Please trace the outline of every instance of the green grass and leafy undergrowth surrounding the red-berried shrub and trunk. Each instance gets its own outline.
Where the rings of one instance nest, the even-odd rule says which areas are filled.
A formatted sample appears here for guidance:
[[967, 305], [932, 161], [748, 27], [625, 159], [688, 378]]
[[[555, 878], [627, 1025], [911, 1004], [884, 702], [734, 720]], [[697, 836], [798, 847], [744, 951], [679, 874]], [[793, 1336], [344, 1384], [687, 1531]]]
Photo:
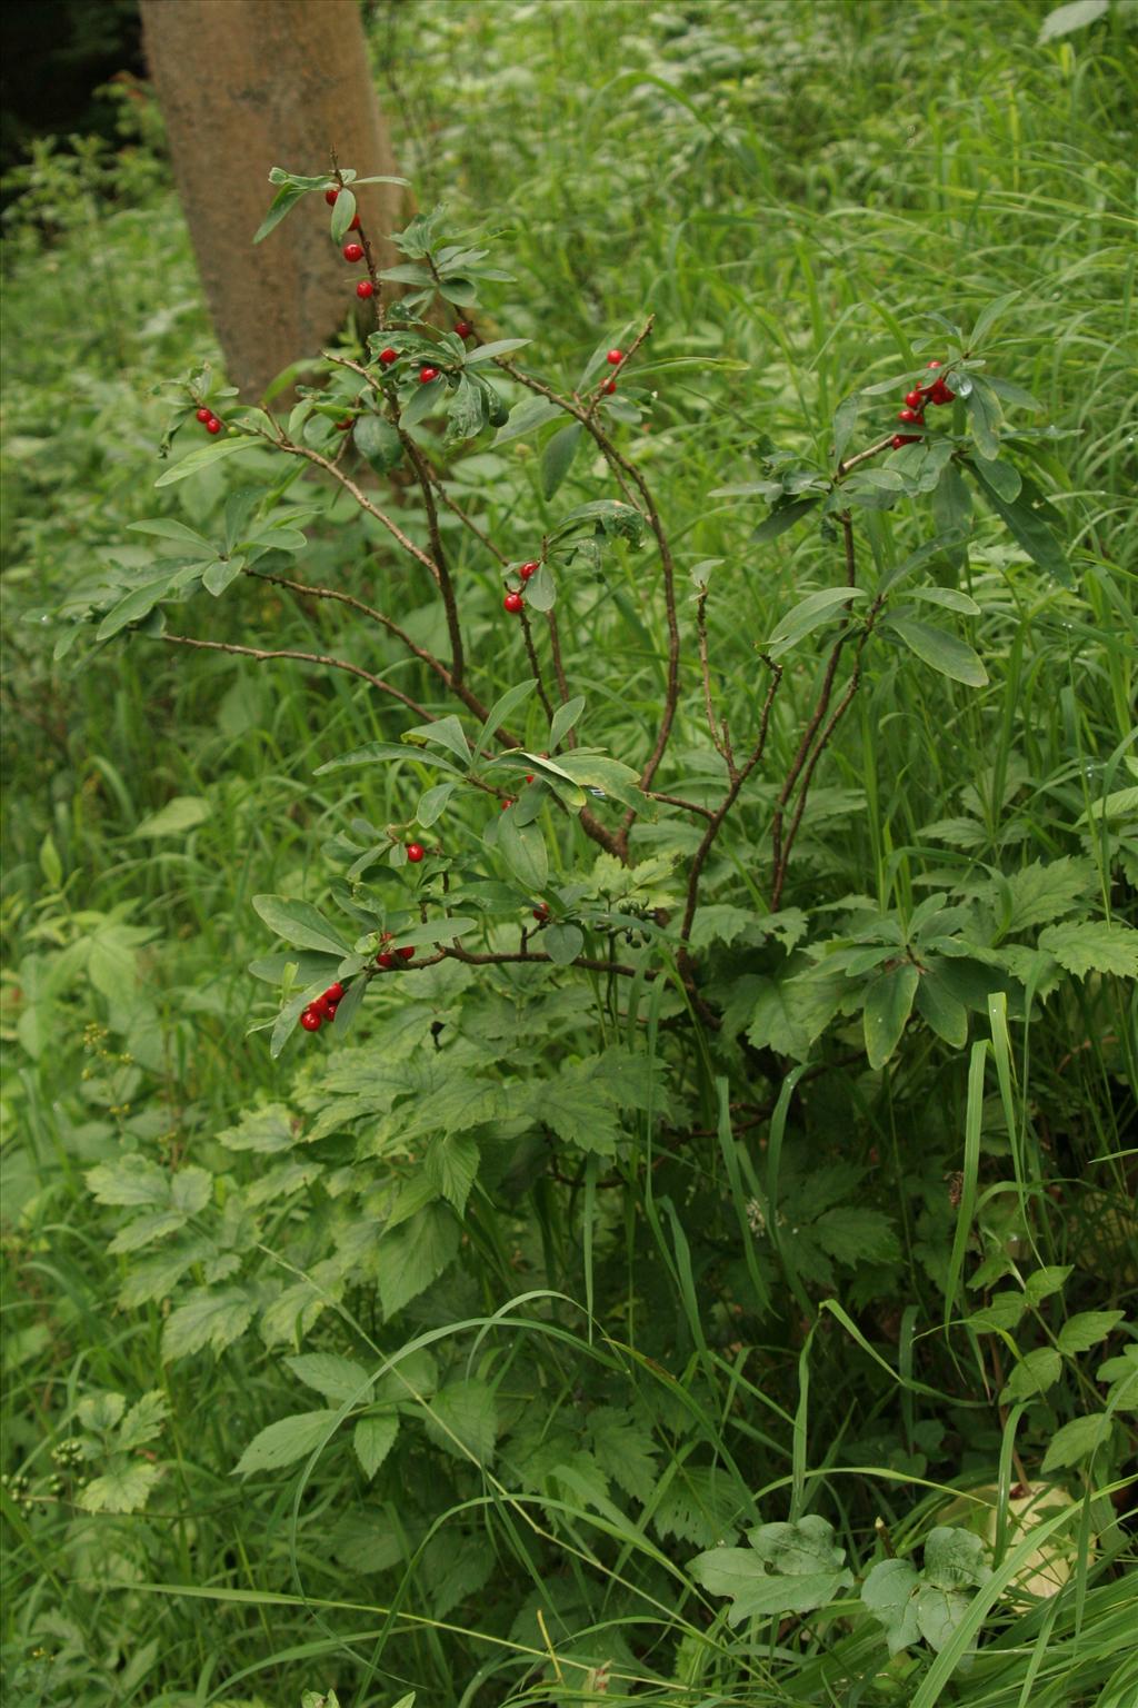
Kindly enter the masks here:
[[[1046, 495], [1042, 535], [1025, 545], [979, 487], [858, 507], [867, 586], [940, 540], [921, 622], [950, 649], [933, 664], [913, 629], [867, 647], [771, 915], [775, 798], [833, 630], [788, 642], [688, 982], [698, 815], [645, 813], [628, 874], [546, 810], [546, 869], [517, 890], [525, 852], [486, 847], [478, 791], [442, 820], [420, 804], [447, 775], [423, 746], [317, 774], [418, 721], [358, 678], [143, 632], [56, 646], [60, 608], [165, 550], [133, 523], [217, 535], [271, 459], [155, 490], [176, 466], [159, 388], [215, 352], [154, 114], [118, 152], [27, 167], [2, 470], [14, 1701], [1135, 1701], [1135, 12], [1090, 5], [1039, 43], [1046, 15], [369, 12], [420, 207], [491, 234], [514, 275], [485, 287], [479, 336], [532, 340], [517, 359], [565, 389], [655, 316], [621, 376], [640, 418], [613, 436], [677, 560], [664, 794], [722, 793], [700, 586], [742, 745], [759, 642], [845, 586], [817, 516], [754, 538], [771, 499], [833, 470], [843, 400], [862, 395], [851, 454], [894, 427], [896, 386], [868, 388], [1002, 307], [983, 355], [1031, 400], [1005, 403], [1002, 466]], [[493, 437], [425, 442], [512, 562], [613, 497], [599, 456], [558, 468], [544, 437]], [[304, 553], [276, 569], [445, 651], [382, 531], [302, 495]], [[425, 545], [415, 492], [398, 502]], [[496, 565], [444, 524], [490, 704], [532, 671]], [[659, 576], [652, 548], [601, 548], [565, 666], [584, 738], [636, 772], [665, 683]], [[242, 581], [205, 605], [171, 625], [346, 656], [456, 712], [328, 601]], [[556, 741], [536, 697], [508, 717], [539, 769]], [[386, 854], [389, 825], [428, 844], [423, 873], [365, 864], [353, 902], [345, 868], [372, 837]], [[288, 965], [299, 989], [442, 905], [444, 844], [486, 919], [508, 885], [522, 922], [553, 904], [563, 965], [375, 979], [343, 1042], [273, 1054]], [[295, 934], [331, 917], [340, 946]], [[464, 941], [517, 941], [514, 919], [479, 929]], [[572, 965], [578, 939], [664, 974], [626, 999]], [[906, 956], [947, 967], [911, 1020]]]

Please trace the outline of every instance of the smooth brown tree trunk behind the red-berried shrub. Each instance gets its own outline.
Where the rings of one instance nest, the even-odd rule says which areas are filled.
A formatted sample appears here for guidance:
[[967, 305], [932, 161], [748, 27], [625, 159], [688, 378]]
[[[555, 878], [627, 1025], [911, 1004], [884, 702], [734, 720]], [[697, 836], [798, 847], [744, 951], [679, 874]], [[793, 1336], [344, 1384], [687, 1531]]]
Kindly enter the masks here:
[[[229, 379], [246, 400], [314, 357], [357, 306], [351, 268], [311, 195], [253, 248], [273, 196], [270, 167], [360, 176], [396, 171], [357, 0], [142, 0], [147, 58], [174, 179]], [[380, 266], [398, 254], [404, 191], [360, 190]]]

